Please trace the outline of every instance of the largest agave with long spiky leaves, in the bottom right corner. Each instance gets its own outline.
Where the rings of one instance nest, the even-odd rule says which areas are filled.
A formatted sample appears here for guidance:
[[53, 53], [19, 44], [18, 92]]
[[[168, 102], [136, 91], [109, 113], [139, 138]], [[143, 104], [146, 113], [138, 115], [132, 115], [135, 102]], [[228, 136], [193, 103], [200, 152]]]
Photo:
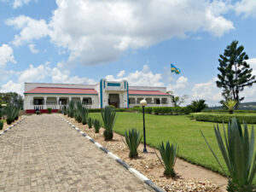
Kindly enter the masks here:
[[[217, 155], [213, 152], [210, 144], [204, 137], [208, 147], [212, 151], [218, 165], [222, 168], [226, 175], [229, 175], [229, 183], [227, 191], [229, 192], [253, 192], [256, 186], [253, 185], [253, 177], [256, 173], [256, 154], [254, 153], [254, 129], [252, 128], [251, 137], [249, 137], [247, 124], [241, 128], [236, 118], [232, 118], [228, 124], [228, 130], [224, 127], [224, 138], [221, 136], [218, 125], [214, 126], [215, 137], [218, 147], [224, 158], [225, 165], [229, 174], [224, 172], [224, 167], [218, 160]], [[254, 158], [253, 158], [254, 156]]]

